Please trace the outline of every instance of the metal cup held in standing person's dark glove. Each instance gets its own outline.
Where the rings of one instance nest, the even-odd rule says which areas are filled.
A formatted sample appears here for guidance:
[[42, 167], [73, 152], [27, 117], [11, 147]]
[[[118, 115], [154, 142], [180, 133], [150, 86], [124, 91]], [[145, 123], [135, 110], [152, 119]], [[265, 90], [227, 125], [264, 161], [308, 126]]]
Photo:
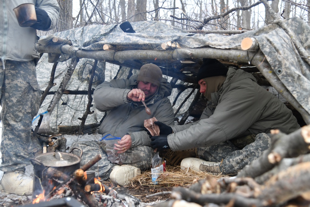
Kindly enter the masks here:
[[37, 23], [37, 15], [34, 4], [20, 4], [18, 7], [15, 7], [13, 11], [16, 15], [18, 24], [21, 27], [29, 27]]

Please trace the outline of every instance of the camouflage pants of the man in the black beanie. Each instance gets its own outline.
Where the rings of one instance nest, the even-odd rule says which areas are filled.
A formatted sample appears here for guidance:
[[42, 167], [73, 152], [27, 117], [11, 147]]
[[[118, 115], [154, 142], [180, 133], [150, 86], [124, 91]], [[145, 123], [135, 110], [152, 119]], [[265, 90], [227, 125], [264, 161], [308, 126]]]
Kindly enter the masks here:
[[235, 175], [239, 170], [250, 164], [262, 155], [271, 145], [270, 134], [260, 133], [255, 141], [240, 149], [230, 141], [222, 142], [209, 147], [197, 148], [197, 155], [207, 161], [221, 162], [224, 175]]

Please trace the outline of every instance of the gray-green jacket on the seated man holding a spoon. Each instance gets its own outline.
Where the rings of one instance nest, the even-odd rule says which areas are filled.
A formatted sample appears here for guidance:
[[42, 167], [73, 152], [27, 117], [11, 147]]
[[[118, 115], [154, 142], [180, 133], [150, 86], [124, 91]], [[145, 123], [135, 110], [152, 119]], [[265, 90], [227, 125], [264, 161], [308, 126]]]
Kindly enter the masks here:
[[162, 79], [157, 93], [145, 100], [146, 105], [152, 111], [147, 115], [141, 102], [127, 101], [127, 94], [137, 85], [138, 75], [129, 79], [113, 79], [110, 82], [101, 83], [94, 91], [95, 107], [100, 111], [109, 111], [100, 125], [99, 133], [105, 136], [111, 134], [115, 137], [123, 137], [126, 133], [131, 135], [131, 147], [150, 146], [151, 139], [144, 131], [144, 119], [155, 117], [167, 125], [174, 124], [174, 114], [167, 98], [171, 94], [171, 85]]

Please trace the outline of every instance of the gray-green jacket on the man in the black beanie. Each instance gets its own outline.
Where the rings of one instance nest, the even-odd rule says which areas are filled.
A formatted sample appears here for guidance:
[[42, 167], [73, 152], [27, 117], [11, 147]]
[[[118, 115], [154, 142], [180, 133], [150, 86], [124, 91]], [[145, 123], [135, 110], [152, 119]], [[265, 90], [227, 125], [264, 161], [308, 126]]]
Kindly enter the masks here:
[[174, 133], [168, 135], [168, 144], [172, 150], [211, 146], [271, 129], [291, 133], [300, 128], [292, 111], [243, 70], [230, 68], [222, 88], [211, 97], [214, 106], [207, 106], [199, 121], [171, 126]]

